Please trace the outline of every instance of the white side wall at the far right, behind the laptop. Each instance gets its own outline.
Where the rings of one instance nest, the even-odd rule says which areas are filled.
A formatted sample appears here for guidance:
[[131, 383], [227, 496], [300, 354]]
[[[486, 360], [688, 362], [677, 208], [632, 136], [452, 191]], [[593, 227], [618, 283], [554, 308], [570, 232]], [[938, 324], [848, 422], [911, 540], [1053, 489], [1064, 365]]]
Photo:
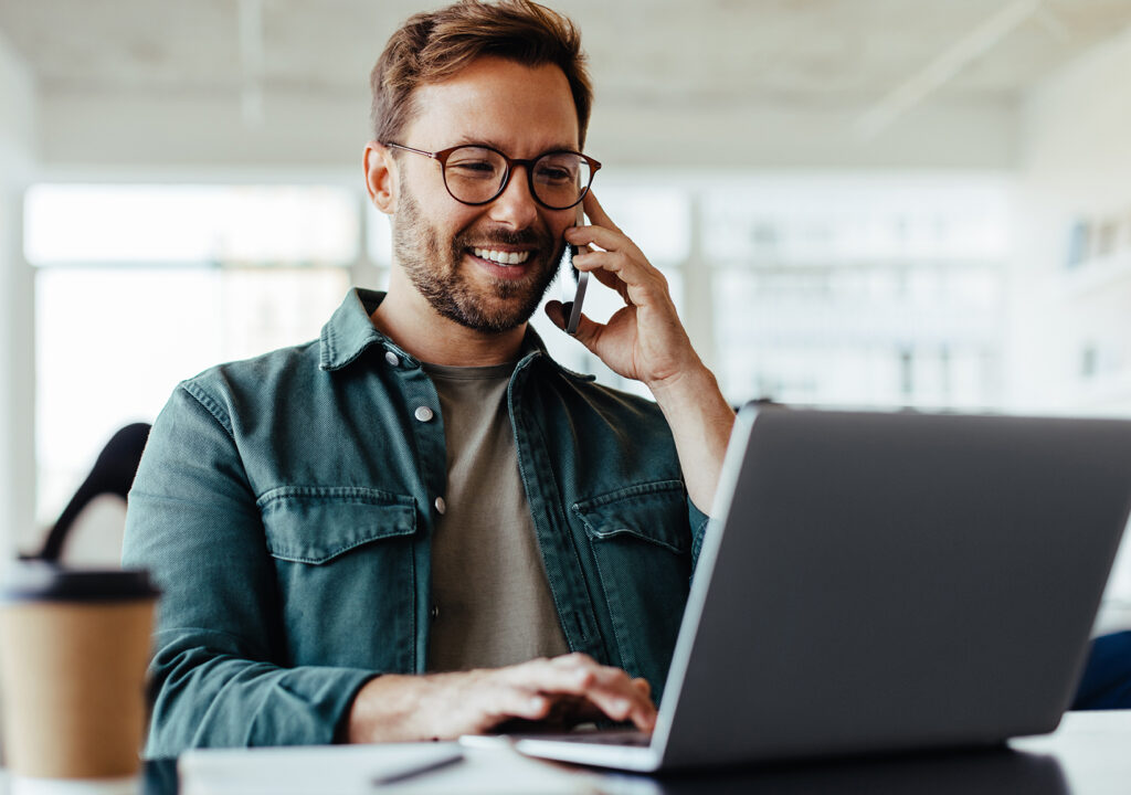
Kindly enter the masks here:
[[[1131, 28], [1051, 76], [1024, 105], [1007, 356], [1013, 405], [1022, 409], [1131, 416], [1129, 77]], [[1069, 268], [1072, 224], [1108, 218], [1121, 224], [1115, 253]], [[1102, 361], [1085, 377], [1089, 344]], [[1115, 623], [1107, 628], [1131, 627], [1131, 537], [1108, 598], [1106, 621]]]

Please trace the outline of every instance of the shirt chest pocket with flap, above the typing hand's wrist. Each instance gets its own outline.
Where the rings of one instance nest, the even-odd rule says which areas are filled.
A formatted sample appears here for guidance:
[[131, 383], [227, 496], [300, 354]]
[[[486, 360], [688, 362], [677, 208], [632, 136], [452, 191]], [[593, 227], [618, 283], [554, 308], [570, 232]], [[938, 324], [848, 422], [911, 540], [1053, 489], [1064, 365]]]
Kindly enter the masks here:
[[356, 486], [285, 486], [258, 505], [291, 664], [411, 673], [414, 500]]

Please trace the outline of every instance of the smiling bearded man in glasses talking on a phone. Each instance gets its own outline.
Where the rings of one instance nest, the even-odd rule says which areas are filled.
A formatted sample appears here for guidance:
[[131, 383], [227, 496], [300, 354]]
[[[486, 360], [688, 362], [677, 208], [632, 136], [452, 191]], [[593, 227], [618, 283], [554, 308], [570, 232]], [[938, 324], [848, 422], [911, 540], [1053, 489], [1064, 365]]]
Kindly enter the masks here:
[[[165, 589], [149, 755], [655, 719], [733, 414], [588, 192], [577, 33], [457, 3], [409, 19], [372, 85], [388, 293], [180, 384], [130, 494], [124, 562]], [[625, 302], [577, 339], [656, 403], [527, 327], [563, 241]]]

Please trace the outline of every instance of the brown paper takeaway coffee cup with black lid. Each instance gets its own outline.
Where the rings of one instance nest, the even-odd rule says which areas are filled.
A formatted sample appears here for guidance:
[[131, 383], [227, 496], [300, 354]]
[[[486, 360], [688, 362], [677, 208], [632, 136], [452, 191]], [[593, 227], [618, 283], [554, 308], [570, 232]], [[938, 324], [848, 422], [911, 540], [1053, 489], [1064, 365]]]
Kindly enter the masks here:
[[5, 767], [28, 778], [138, 772], [157, 590], [144, 571], [14, 565], [0, 579]]

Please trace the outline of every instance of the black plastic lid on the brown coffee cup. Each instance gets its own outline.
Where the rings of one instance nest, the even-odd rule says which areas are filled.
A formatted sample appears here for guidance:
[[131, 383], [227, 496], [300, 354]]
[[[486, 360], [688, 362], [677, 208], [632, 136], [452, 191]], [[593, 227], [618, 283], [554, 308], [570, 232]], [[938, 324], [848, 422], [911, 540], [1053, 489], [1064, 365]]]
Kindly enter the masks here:
[[0, 573], [2, 602], [127, 602], [161, 591], [144, 569], [67, 569], [18, 563]]

